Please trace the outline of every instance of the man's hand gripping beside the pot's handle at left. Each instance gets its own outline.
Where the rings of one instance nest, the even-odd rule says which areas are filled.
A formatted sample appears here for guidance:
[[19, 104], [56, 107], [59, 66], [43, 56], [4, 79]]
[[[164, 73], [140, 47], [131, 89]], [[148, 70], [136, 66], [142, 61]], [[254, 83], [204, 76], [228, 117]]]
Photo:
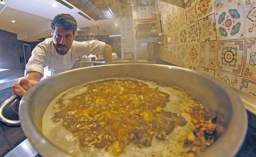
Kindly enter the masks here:
[[16, 99], [11, 107], [14, 109], [14, 112], [18, 114], [18, 107], [20, 104], [21, 97], [27, 92], [29, 88], [31, 88], [34, 84], [39, 82], [42, 78], [42, 74], [38, 72], [30, 72], [28, 73], [26, 78], [20, 80], [19, 83], [15, 83], [11, 86], [11, 90], [14, 94], [18, 95], [18, 99]]

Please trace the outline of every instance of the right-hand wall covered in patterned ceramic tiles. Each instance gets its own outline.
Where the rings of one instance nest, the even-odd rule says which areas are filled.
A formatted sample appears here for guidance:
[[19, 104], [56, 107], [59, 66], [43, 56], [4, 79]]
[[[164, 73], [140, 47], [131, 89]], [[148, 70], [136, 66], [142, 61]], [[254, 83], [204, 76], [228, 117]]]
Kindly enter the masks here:
[[158, 1], [162, 60], [256, 97], [256, 0]]

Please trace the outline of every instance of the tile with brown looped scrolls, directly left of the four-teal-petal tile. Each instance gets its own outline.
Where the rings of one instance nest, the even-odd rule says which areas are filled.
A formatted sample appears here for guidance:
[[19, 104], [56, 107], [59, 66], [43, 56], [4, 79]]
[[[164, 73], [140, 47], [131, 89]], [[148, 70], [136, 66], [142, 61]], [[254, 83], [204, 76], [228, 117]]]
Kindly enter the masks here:
[[215, 14], [211, 14], [198, 20], [200, 42], [212, 42], [217, 40]]

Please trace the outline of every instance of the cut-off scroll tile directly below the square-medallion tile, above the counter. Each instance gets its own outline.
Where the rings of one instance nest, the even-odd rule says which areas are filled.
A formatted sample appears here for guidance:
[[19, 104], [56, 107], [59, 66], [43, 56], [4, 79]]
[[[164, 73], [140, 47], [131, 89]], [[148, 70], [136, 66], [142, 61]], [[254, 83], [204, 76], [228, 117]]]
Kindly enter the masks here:
[[237, 89], [240, 88], [240, 84], [242, 80], [242, 77], [240, 76], [216, 70], [214, 77], [221, 80], [224, 84], [229, 85], [233, 88], [237, 88]]

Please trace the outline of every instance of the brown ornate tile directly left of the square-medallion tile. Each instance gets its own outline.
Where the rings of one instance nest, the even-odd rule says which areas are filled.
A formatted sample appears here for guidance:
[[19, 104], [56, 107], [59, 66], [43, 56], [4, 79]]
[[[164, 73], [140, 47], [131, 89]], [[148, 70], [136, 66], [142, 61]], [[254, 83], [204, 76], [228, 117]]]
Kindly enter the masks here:
[[201, 43], [200, 44], [200, 61], [199, 64], [208, 66], [215, 69], [216, 65], [216, 54], [217, 54], [217, 43]]

